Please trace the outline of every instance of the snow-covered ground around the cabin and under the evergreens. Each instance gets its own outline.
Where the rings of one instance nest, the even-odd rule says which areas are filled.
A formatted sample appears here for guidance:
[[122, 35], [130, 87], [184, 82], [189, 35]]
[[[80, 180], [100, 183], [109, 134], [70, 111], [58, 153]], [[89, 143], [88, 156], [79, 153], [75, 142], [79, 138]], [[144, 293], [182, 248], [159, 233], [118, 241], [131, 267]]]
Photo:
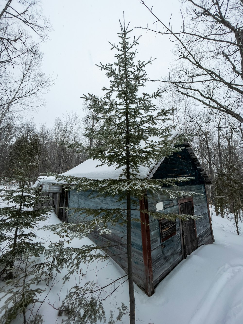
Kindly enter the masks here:
[[[243, 320], [243, 223], [239, 223], [241, 235], [236, 235], [233, 220], [221, 218], [215, 213], [212, 217], [215, 242], [203, 245], [194, 251], [186, 260], [183, 260], [169, 275], [156, 287], [155, 294], [147, 297], [145, 293], [134, 285], [136, 320], [137, 323], [154, 324], [241, 324]], [[58, 224], [60, 221], [54, 212], [47, 220], [39, 224], [36, 233], [40, 241], [58, 241], [59, 237], [52, 232], [43, 231], [42, 226]], [[73, 247], [91, 244], [88, 238], [75, 239]], [[38, 260], [37, 260], [38, 262]], [[124, 272], [113, 260], [93, 262], [81, 266], [85, 276], [77, 273], [64, 285], [62, 273], [53, 273], [53, 283], [46, 287], [46, 283], [39, 284], [46, 288], [45, 293], [39, 297], [42, 304], [39, 314], [43, 316], [45, 324], [61, 324], [65, 316], [58, 316], [58, 308], [65, 298], [68, 290], [79, 284], [94, 281], [97, 286], [105, 286], [124, 275]], [[123, 302], [129, 306], [128, 282], [118, 283], [107, 287], [102, 292], [107, 322], [110, 311], [114, 319], [118, 315], [117, 307]], [[2, 283], [3, 285], [3, 283]], [[119, 287], [118, 287], [119, 286]], [[118, 287], [111, 294], [110, 292]], [[0, 308], [4, 298], [0, 295]], [[53, 308], [52, 306], [55, 308]], [[124, 324], [129, 323], [129, 317], [122, 318]], [[23, 323], [19, 317], [13, 324]]]

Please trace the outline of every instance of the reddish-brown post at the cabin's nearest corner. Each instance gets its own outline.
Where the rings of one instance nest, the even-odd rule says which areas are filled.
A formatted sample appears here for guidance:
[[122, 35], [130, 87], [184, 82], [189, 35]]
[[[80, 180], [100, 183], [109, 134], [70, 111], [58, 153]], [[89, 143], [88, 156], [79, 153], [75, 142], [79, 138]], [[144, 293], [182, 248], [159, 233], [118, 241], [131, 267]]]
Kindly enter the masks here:
[[141, 236], [143, 244], [145, 293], [150, 297], [154, 293], [154, 282], [152, 270], [149, 216], [145, 212], [145, 209], [148, 210], [148, 203], [147, 200], [145, 200], [145, 198], [141, 199], [139, 203], [141, 219]]

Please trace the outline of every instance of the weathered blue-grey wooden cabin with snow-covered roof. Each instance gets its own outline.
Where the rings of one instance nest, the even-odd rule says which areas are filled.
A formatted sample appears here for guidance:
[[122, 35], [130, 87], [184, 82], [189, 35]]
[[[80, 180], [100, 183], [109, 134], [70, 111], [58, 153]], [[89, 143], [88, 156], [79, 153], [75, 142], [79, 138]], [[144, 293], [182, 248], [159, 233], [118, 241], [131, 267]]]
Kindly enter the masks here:
[[[65, 172], [64, 175], [87, 177], [87, 175], [85, 175], [85, 168], [88, 164], [90, 164], [90, 160]], [[99, 179], [96, 178], [96, 174], [99, 173], [99, 168], [101, 167], [93, 171], [94, 175], [92, 179]], [[79, 170], [79, 173], [75, 170]], [[163, 194], [157, 194], [152, 197], [147, 193], [147, 199], [139, 202], [141, 211], [132, 211], [132, 218], [141, 219], [141, 222], [132, 221], [134, 282], [141, 287], [148, 296], [154, 293], [156, 285], [181, 260], [185, 259], [199, 246], [214, 242], [206, 194], [206, 185], [211, 184], [211, 182], [188, 142], [184, 142], [182, 151], [161, 159], [147, 174], [148, 179], [173, 177], [194, 177], [193, 180], [180, 183], [179, 190], [198, 194], [193, 195], [193, 197], [169, 199]], [[107, 174], [106, 178], [109, 178]], [[39, 181], [40, 184], [44, 186], [48, 182], [50, 184], [53, 180], [41, 179]], [[171, 187], [167, 187], [167, 189], [173, 190]], [[178, 190], [178, 188], [174, 189]], [[66, 206], [69, 208], [122, 207], [121, 202], [116, 202], [115, 198], [96, 197], [95, 193], [91, 195], [91, 198], [89, 197], [90, 192], [88, 191], [70, 190], [65, 193], [65, 191], [60, 188], [59, 193], [52, 192], [50, 194], [52, 194], [54, 207], [57, 212], [59, 206]], [[57, 197], [58, 194], [59, 196]], [[172, 222], [163, 219], [163, 216], [161, 220], [153, 219], [149, 217], [147, 213], [143, 213], [142, 210], [159, 211], [161, 212], [161, 216], [163, 213], [178, 213], [195, 214], [201, 217], [196, 221], [192, 219], [189, 221], [177, 219], [176, 222]], [[65, 214], [62, 209], [58, 213], [59, 218], [67, 222], [79, 223], [83, 220], [83, 216], [78, 213], [73, 213], [71, 210]], [[102, 235], [94, 231], [90, 234], [89, 238], [98, 246], [110, 246], [104, 250], [125, 272], [127, 272], [125, 245], [126, 226], [117, 224], [115, 227], [110, 227], [110, 231], [111, 234]]]

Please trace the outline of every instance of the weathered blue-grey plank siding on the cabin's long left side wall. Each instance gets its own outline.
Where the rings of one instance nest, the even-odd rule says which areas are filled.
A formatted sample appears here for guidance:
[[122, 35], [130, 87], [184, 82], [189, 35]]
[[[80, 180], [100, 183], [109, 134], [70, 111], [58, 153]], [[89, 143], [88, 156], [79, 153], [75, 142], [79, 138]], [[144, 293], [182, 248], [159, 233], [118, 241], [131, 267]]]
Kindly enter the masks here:
[[[126, 202], [116, 202], [115, 198], [112, 197], [95, 197], [92, 194], [90, 197], [88, 195], [90, 192], [75, 191], [71, 190], [69, 193], [69, 208], [126, 208]], [[139, 203], [139, 202], [138, 202]], [[132, 208], [138, 208], [138, 206], [133, 206]], [[131, 211], [132, 219], [140, 219], [140, 211]], [[73, 211], [68, 211], [68, 222], [80, 223], [84, 220], [85, 215], [80, 215], [79, 213], [74, 213]], [[124, 217], [126, 214], [124, 212]], [[88, 217], [87, 217], [88, 219]], [[133, 274], [134, 282], [140, 287], [145, 288], [144, 279], [144, 261], [143, 261], [143, 247], [142, 247], [142, 237], [141, 237], [141, 223], [137, 221], [132, 221], [132, 254], [133, 254]], [[98, 231], [92, 232], [89, 238], [98, 246], [103, 247], [105, 252], [110, 255], [110, 257], [115, 260], [121, 268], [127, 273], [127, 235], [126, 226], [117, 224], [115, 227], [108, 226], [111, 234], [99, 234]]]

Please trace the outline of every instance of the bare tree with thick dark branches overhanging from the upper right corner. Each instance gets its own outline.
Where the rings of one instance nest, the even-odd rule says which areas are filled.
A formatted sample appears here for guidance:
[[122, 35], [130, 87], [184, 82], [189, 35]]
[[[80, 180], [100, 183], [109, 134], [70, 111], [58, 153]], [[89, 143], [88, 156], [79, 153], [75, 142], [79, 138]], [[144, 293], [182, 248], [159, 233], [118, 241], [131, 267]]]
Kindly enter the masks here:
[[[177, 90], [203, 107], [243, 122], [243, 3], [241, 0], [186, 0], [182, 28], [172, 30], [145, 1], [156, 19], [153, 32], [172, 35], [176, 66], [169, 78]], [[159, 25], [162, 30], [159, 30]]]

